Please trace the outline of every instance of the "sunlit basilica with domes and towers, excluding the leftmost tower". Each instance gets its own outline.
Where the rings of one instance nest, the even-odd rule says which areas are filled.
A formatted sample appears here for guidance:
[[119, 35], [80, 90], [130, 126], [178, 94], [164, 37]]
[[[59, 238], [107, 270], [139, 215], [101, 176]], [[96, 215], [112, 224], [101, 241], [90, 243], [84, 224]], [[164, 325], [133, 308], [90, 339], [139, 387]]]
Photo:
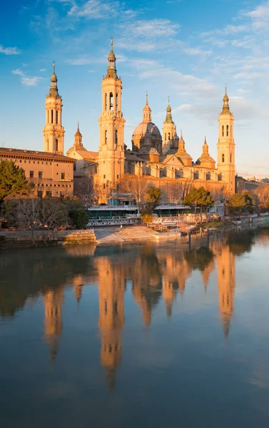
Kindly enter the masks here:
[[[218, 116], [218, 160], [210, 156], [208, 143], [203, 143], [201, 156], [193, 161], [188, 153], [183, 134], [178, 136], [173, 121], [170, 100], [166, 108], [162, 133], [152, 122], [151, 107], [143, 107], [142, 121], [133, 131], [131, 149], [124, 138], [122, 112], [122, 81], [116, 70], [116, 56], [108, 55], [108, 68], [101, 84], [102, 111], [98, 119], [100, 143], [98, 152], [87, 151], [78, 128], [75, 141], [67, 156], [76, 159], [74, 179], [91, 173], [103, 190], [108, 185], [116, 190], [125, 174], [143, 175], [148, 184], [160, 187], [168, 201], [166, 189], [170, 185], [188, 184], [188, 188], [203, 186], [215, 194], [228, 197], [235, 193], [235, 143], [233, 139], [233, 114], [230, 113], [227, 89], [223, 97], [223, 109]], [[60, 106], [60, 103], [59, 103]], [[61, 113], [59, 112], [59, 115]], [[44, 150], [48, 148], [44, 133]], [[51, 150], [51, 148], [49, 148]]]

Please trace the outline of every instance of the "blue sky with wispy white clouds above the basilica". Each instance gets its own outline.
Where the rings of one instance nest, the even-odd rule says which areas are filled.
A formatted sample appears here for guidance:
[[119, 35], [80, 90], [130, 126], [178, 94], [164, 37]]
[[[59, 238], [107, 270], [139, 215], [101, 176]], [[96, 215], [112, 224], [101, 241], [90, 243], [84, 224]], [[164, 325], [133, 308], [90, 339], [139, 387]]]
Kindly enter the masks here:
[[0, 146], [43, 149], [56, 61], [65, 150], [77, 121], [84, 146], [98, 150], [101, 78], [113, 36], [129, 148], [148, 91], [160, 130], [170, 96], [193, 160], [205, 135], [216, 158], [227, 83], [237, 171], [269, 176], [269, 1], [13, 0], [1, 8], [0, 28]]

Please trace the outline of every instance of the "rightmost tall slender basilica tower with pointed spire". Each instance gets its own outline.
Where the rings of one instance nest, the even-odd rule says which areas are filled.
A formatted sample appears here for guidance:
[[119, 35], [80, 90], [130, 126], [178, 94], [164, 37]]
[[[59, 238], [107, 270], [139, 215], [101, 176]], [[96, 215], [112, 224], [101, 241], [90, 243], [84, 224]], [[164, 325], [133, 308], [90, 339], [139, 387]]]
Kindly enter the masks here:
[[223, 97], [223, 111], [218, 116], [218, 173], [227, 183], [227, 196], [235, 193], [235, 141], [233, 138], [233, 114], [230, 113], [227, 87]]

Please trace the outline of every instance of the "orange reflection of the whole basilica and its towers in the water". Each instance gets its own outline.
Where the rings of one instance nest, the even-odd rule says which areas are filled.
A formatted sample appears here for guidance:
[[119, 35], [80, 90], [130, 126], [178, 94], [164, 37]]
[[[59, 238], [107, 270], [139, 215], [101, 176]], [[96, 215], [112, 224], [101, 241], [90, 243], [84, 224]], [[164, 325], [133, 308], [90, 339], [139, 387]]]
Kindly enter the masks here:
[[[86, 272], [87, 282], [98, 280], [99, 321], [101, 337], [100, 360], [106, 372], [110, 388], [116, 382], [116, 370], [121, 365], [122, 334], [124, 326], [124, 295], [126, 282], [132, 283], [133, 299], [141, 308], [143, 323], [149, 327], [153, 312], [163, 297], [168, 317], [172, 315], [173, 304], [178, 291], [183, 295], [186, 281], [193, 270], [200, 270], [205, 287], [210, 273], [216, 269], [220, 319], [225, 337], [230, 330], [233, 317], [235, 293], [235, 255], [226, 243], [219, 240], [210, 243], [210, 248], [197, 248], [191, 257], [188, 253], [153, 245], [143, 245], [133, 251], [129, 258], [113, 258], [113, 255], [96, 255], [92, 258], [91, 274]], [[76, 301], [82, 297], [84, 275], [74, 275], [73, 294]], [[55, 360], [63, 324], [61, 308], [64, 303], [64, 285], [44, 294], [45, 339], [49, 344], [51, 360]]]

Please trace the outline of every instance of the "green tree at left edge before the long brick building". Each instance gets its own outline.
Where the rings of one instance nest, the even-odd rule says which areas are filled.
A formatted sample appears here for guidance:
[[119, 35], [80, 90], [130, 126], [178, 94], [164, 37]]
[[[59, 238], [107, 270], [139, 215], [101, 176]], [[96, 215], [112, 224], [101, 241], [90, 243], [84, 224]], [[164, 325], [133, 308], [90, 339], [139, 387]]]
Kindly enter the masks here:
[[23, 168], [13, 161], [0, 162], [0, 202], [9, 195], [26, 195], [33, 186], [27, 182]]

